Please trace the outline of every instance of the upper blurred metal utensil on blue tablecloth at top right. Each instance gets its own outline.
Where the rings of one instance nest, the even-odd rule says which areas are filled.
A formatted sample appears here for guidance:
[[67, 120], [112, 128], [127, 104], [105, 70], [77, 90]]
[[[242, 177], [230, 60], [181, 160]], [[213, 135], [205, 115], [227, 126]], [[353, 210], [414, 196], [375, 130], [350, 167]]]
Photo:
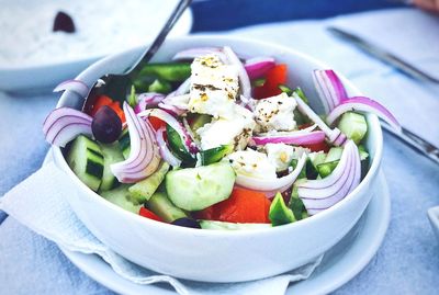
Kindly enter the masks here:
[[356, 45], [357, 47], [359, 47], [367, 54], [401, 70], [402, 72], [404, 72], [405, 75], [407, 75], [412, 78], [439, 84], [439, 78], [430, 76], [429, 73], [416, 68], [415, 66], [408, 64], [407, 61], [401, 59], [399, 57], [389, 53], [387, 50], [385, 50], [374, 44], [371, 44], [370, 42], [354, 35], [352, 33], [346, 32], [341, 29], [334, 27], [334, 26], [329, 26], [329, 27], [327, 27], [327, 30], [330, 33], [333, 33], [334, 35], [336, 35], [337, 37], [340, 37], [341, 39]]

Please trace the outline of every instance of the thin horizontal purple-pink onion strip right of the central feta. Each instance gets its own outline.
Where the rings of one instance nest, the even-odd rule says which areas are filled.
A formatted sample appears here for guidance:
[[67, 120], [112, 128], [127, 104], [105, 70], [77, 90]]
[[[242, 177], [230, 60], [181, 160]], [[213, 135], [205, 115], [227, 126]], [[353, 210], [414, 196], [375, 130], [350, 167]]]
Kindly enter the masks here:
[[322, 131], [316, 132], [291, 132], [282, 133], [279, 135], [254, 136], [251, 138], [256, 145], [267, 144], [288, 144], [288, 145], [313, 145], [319, 144], [325, 140], [325, 133]]

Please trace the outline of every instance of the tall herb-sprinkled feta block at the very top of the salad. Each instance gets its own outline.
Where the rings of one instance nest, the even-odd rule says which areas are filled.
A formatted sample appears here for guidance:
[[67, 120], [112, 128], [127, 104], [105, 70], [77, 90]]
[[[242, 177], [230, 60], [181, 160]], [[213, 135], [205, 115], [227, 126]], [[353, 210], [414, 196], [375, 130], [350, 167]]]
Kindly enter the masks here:
[[224, 65], [216, 55], [195, 58], [191, 69], [190, 112], [232, 117], [239, 90], [238, 69]]

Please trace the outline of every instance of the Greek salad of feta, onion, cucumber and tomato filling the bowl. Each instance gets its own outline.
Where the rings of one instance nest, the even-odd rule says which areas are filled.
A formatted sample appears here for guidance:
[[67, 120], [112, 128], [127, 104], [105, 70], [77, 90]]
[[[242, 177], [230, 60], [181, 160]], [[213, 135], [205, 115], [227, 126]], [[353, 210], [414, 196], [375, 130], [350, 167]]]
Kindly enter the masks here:
[[[86, 185], [146, 218], [227, 230], [295, 223], [367, 173], [367, 112], [399, 125], [378, 102], [349, 98], [333, 70], [313, 72], [317, 114], [293, 70], [227, 46], [190, 48], [133, 75], [127, 95], [54, 110], [43, 131]], [[55, 90], [89, 91], [79, 80]]]

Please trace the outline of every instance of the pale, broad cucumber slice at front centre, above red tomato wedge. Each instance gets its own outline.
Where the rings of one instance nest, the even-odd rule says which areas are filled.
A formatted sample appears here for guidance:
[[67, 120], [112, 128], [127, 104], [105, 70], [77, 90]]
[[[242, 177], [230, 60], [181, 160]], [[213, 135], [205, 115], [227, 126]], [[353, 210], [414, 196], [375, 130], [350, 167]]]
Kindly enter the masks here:
[[176, 206], [204, 209], [230, 196], [235, 171], [228, 162], [172, 170], [166, 174], [166, 191]]

